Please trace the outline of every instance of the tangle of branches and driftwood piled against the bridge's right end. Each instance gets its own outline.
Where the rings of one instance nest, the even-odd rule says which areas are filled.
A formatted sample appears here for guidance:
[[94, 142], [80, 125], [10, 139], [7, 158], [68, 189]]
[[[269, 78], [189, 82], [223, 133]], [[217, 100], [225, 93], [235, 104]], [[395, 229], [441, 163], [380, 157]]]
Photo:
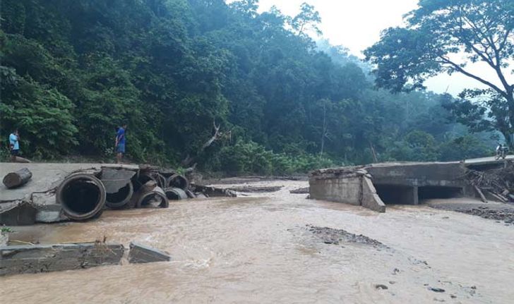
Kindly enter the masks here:
[[514, 164], [512, 162], [506, 162], [501, 169], [486, 171], [468, 169], [465, 178], [483, 202], [487, 200], [514, 202]]

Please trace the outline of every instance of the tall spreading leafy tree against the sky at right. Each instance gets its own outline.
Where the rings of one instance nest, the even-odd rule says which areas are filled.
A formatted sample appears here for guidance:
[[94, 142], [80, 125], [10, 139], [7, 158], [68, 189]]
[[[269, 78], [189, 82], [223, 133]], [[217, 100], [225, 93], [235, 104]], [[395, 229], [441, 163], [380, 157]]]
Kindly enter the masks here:
[[[508, 128], [500, 126], [502, 119], [496, 120], [496, 128], [512, 145], [514, 84], [507, 75], [514, 59], [513, 16], [509, 0], [420, 1], [419, 8], [407, 15], [407, 28], [385, 30], [380, 42], [366, 50], [366, 59], [376, 64], [376, 84], [397, 92], [423, 87], [426, 78], [441, 72], [462, 73], [486, 85], [489, 106], [500, 103], [495, 107], [509, 113]], [[458, 61], [461, 53], [465, 61]], [[494, 71], [500, 85], [467, 69], [468, 63], [478, 61]], [[480, 111], [486, 111], [482, 106]], [[455, 109], [466, 107], [469, 104]]]

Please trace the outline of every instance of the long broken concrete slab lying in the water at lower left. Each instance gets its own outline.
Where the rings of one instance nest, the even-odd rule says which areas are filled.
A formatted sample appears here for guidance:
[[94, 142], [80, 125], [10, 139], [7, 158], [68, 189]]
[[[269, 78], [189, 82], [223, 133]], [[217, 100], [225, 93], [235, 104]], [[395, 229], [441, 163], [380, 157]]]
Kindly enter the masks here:
[[121, 244], [74, 243], [0, 247], [0, 276], [118, 265]]

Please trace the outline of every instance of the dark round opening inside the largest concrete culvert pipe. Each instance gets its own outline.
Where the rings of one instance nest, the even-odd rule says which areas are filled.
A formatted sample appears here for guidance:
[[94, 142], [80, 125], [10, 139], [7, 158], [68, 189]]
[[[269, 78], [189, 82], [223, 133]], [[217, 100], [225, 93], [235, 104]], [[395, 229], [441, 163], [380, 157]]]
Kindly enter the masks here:
[[100, 189], [95, 183], [80, 178], [71, 181], [62, 190], [62, 204], [76, 214], [86, 214], [94, 211], [101, 203]]

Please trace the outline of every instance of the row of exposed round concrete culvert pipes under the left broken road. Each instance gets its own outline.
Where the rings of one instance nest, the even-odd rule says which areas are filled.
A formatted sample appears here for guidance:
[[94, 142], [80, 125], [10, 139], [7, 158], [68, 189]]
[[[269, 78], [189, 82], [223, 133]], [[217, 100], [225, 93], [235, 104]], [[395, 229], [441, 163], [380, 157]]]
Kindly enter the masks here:
[[169, 207], [168, 200], [196, 197], [186, 177], [175, 172], [102, 168], [67, 176], [56, 189], [56, 203], [73, 220], [100, 217], [105, 207]]

